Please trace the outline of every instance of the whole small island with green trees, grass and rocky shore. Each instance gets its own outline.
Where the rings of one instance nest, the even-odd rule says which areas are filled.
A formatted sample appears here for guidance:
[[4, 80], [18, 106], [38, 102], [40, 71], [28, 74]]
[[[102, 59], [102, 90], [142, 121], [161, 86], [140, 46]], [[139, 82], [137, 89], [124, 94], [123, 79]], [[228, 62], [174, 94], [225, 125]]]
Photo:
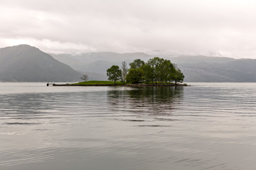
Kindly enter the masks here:
[[129, 63], [128, 69], [125, 61], [121, 67], [112, 65], [107, 70], [110, 81], [87, 81], [88, 75], [81, 77], [84, 82], [53, 86], [188, 86], [181, 84], [184, 75], [170, 60], [154, 57], [146, 63], [141, 59]]

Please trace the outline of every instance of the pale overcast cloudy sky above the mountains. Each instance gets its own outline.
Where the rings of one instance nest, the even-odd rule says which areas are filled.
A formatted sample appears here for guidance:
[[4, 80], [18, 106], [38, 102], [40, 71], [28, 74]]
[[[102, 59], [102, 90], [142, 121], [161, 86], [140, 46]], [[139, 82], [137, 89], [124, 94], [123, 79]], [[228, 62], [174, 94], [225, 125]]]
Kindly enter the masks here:
[[256, 58], [255, 0], [0, 0], [0, 47]]

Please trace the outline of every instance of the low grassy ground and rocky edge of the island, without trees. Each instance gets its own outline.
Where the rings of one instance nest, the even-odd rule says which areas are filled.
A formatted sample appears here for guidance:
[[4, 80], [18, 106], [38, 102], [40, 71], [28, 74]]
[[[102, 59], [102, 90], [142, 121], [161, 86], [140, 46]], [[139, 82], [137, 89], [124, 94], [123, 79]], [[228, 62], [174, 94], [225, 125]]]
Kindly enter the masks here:
[[129, 86], [129, 87], [140, 87], [140, 86], [190, 86], [187, 84], [180, 84], [180, 83], [173, 83], [173, 82], [167, 82], [167, 83], [127, 83], [127, 84], [123, 84], [123, 82], [120, 81], [85, 81], [85, 82], [78, 82], [78, 83], [74, 83], [74, 84], [62, 84], [62, 85], [58, 85], [58, 84], [53, 84], [53, 86]]

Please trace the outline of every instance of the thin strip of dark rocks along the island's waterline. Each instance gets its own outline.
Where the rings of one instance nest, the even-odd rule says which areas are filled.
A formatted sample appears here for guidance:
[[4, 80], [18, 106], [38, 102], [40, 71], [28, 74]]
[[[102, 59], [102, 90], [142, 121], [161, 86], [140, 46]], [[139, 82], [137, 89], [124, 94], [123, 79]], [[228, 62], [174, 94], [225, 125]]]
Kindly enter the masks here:
[[53, 86], [127, 86], [127, 87], [177, 87], [177, 86], [190, 86], [187, 84], [166, 84], [166, 83], [159, 83], [159, 84], [146, 84], [146, 83], [138, 83], [138, 84], [127, 84], [127, 85], [113, 85], [113, 84], [91, 84], [91, 85], [77, 85], [77, 84], [53, 84]]

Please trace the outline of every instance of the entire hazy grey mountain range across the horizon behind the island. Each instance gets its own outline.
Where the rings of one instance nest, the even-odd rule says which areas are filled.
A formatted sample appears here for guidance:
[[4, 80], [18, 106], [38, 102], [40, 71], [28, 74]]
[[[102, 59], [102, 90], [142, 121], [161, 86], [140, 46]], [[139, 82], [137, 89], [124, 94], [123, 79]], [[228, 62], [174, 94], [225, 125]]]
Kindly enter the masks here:
[[[89, 80], [107, 80], [106, 70], [140, 58], [154, 56], [143, 52], [90, 52], [82, 55], [47, 54], [36, 47], [17, 45], [0, 49], [2, 82], [74, 82], [82, 74]], [[161, 57], [161, 56], [159, 56]], [[169, 57], [185, 75], [184, 82], [256, 82], [256, 60], [202, 55]]]

